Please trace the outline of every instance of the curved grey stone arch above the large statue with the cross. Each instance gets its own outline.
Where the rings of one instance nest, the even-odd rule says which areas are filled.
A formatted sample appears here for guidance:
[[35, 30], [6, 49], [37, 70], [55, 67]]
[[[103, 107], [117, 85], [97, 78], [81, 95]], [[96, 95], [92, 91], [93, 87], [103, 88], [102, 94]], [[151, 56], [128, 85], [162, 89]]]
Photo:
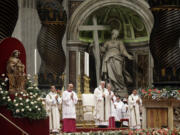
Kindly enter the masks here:
[[154, 18], [149, 9], [149, 5], [143, 0], [86, 0], [73, 13], [70, 18], [67, 29], [67, 40], [77, 41], [79, 38], [79, 26], [83, 24], [86, 18], [99, 8], [120, 5], [130, 8], [139, 14], [145, 24], [148, 33], [151, 33]]

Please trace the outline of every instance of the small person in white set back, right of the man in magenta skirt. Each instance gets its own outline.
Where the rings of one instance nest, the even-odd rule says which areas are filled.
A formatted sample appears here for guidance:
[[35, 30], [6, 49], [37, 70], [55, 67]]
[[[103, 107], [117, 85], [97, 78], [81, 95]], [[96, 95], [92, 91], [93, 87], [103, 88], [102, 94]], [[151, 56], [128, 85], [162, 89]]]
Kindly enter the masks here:
[[121, 101], [119, 96], [116, 96], [116, 101], [114, 102], [114, 106], [116, 109], [116, 116], [115, 116], [115, 121], [116, 121], [116, 127], [120, 127], [120, 121], [122, 119], [122, 108], [124, 106], [124, 103]]

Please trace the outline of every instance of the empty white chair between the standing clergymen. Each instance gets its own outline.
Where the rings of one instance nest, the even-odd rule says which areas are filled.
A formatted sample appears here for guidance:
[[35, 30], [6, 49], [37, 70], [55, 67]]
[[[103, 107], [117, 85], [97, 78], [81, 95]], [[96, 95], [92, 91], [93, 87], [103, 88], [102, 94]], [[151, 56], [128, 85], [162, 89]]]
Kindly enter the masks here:
[[94, 94], [82, 94], [84, 126], [94, 126]]

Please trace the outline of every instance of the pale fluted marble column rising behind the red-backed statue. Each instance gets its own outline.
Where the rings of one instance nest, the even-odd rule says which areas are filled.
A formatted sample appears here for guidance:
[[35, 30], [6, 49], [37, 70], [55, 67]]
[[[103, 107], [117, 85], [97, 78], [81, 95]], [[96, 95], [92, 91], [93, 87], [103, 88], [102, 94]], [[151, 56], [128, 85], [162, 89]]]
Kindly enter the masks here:
[[[34, 50], [37, 46], [37, 37], [41, 27], [36, 10], [36, 0], [19, 0], [19, 17], [12, 37], [20, 40], [26, 50], [27, 73], [35, 73]], [[37, 51], [37, 73], [41, 59]]]

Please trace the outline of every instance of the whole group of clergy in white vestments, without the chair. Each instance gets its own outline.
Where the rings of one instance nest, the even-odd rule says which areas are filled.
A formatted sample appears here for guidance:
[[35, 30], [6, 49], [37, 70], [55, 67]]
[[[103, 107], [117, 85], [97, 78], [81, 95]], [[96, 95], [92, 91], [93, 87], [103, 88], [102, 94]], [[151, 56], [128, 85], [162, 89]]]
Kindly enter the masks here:
[[[111, 85], [101, 81], [94, 90], [95, 109], [93, 112], [95, 125], [99, 128], [129, 127], [141, 128], [141, 105], [142, 100], [137, 91], [126, 98], [114, 95]], [[76, 132], [76, 104], [78, 97], [73, 90], [73, 84], [68, 84], [67, 90], [63, 91], [62, 97], [58, 94], [54, 85], [46, 96], [46, 111], [49, 115], [50, 132], [60, 132], [60, 105], [62, 106], [63, 132]]]

